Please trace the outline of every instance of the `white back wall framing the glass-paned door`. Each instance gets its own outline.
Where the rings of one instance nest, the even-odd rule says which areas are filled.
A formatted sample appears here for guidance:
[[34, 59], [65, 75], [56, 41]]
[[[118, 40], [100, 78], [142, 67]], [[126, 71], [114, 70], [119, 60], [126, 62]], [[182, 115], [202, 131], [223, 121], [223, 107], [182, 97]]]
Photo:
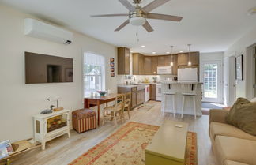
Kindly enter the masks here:
[[[219, 61], [223, 64], [224, 52], [201, 53], [200, 54], [200, 82], [204, 79], [204, 62]], [[223, 65], [220, 66], [220, 103], [223, 103]]]

